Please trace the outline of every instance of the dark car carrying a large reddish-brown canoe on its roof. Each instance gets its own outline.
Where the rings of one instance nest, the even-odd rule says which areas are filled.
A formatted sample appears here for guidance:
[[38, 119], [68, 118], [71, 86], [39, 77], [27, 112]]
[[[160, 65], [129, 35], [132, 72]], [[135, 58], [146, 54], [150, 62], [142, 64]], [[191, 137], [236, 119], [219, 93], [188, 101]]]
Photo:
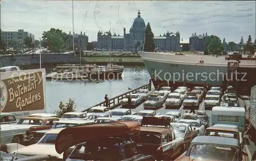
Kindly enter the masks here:
[[132, 142], [130, 136], [139, 132], [139, 123], [131, 121], [73, 126], [58, 134], [55, 149], [67, 160], [154, 160]]

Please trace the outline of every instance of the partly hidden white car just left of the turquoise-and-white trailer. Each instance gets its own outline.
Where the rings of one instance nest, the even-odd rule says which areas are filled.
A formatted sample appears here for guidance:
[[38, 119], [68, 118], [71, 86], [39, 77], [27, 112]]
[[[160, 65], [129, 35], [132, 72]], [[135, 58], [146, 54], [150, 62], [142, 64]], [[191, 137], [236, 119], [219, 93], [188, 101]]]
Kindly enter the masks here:
[[186, 124], [190, 124], [191, 127], [194, 130], [197, 130], [198, 135], [203, 135], [204, 134], [204, 125], [202, 124], [201, 120], [197, 119], [197, 120], [190, 120], [190, 119], [180, 119], [178, 121], [178, 123], [186, 123]]

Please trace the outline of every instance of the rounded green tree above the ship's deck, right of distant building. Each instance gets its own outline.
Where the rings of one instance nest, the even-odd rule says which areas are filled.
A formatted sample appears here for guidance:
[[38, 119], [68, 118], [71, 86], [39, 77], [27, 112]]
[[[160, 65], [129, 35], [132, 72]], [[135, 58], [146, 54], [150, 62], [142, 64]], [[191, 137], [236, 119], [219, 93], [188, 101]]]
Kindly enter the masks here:
[[211, 35], [206, 37], [205, 46], [207, 51], [214, 53], [214, 54], [220, 54], [224, 51], [223, 44], [221, 42], [221, 39], [218, 36]]

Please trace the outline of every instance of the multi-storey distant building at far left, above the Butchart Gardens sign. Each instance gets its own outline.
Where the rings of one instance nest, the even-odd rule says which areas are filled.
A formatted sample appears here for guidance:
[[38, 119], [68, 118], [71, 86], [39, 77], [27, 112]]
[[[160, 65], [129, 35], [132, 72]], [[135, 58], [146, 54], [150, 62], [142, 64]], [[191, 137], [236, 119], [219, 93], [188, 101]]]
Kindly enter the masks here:
[[18, 31], [2, 31], [1, 39], [6, 42], [9, 48], [22, 48], [26, 37], [31, 37], [34, 42], [35, 36], [29, 32], [19, 29]]

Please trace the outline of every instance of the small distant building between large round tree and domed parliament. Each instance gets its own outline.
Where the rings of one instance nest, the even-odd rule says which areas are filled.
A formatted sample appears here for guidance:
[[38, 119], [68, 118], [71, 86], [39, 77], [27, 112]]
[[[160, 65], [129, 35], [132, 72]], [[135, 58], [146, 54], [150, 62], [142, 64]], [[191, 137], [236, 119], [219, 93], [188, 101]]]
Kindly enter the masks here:
[[[71, 34], [71, 32], [69, 32], [69, 44], [72, 49], [73, 48], [73, 35]], [[86, 50], [87, 45], [88, 45], [88, 36], [86, 35], [85, 32], [83, 34], [82, 34], [82, 32], [80, 34], [74, 34], [74, 49]]]

